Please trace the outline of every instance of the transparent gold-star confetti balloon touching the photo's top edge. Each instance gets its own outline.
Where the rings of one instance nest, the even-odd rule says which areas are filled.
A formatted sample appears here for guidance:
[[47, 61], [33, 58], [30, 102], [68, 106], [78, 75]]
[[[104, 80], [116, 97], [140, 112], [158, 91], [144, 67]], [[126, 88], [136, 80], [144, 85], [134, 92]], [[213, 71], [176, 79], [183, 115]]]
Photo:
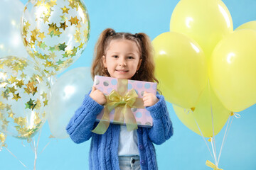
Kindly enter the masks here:
[[26, 50], [48, 77], [80, 57], [90, 33], [87, 9], [80, 0], [28, 1], [21, 27]]

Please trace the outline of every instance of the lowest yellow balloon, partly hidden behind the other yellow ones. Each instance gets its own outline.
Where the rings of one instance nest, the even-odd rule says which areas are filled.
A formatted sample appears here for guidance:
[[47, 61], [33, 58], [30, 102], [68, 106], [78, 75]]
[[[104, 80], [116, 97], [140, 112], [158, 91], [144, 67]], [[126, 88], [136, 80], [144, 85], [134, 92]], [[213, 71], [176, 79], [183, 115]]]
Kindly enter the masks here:
[[[214, 135], [217, 135], [230, 115], [230, 111], [220, 103], [213, 89], [210, 88], [209, 90], [208, 86], [206, 86], [206, 89], [203, 91], [195, 111], [189, 112], [189, 109], [173, 106], [181, 122], [198, 135], [201, 135], [202, 132], [204, 137], [213, 137], [213, 127]], [[213, 110], [213, 120], [211, 110]]]

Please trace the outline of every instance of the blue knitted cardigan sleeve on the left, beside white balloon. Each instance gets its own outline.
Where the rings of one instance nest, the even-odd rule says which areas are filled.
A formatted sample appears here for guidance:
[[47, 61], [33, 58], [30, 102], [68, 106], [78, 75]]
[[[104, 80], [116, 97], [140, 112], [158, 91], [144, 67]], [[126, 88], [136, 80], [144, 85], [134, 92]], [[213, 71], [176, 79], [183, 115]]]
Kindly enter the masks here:
[[92, 128], [95, 124], [97, 114], [99, 114], [103, 108], [102, 105], [90, 98], [88, 94], [85, 95], [82, 105], [75, 111], [75, 114], [66, 127], [71, 140], [75, 143], [89, 140], [90, 137], [92, 137]]

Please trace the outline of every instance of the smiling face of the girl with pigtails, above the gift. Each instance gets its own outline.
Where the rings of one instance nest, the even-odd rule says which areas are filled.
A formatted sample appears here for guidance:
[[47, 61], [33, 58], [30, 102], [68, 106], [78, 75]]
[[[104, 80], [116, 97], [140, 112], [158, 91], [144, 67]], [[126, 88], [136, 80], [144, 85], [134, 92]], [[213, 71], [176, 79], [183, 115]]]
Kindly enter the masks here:
[[102, 60], [110, 77], [117, 79], [131, 79], [142, 64], [139, 48], [132, 40], [111, 40]]

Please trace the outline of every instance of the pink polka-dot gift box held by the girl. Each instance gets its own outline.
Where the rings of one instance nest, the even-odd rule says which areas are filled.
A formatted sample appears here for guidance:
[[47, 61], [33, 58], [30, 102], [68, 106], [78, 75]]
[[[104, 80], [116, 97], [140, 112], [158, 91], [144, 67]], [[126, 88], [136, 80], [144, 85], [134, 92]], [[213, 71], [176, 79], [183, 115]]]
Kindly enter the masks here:
[[[122, 117], [123, 115], [126, 115], [128, 113], [132, 113], [136, 121], [135, 124], [137, 124], [138, 126], [150, 128], [153, 125], [153, 119], [151, 118], [149, 111], [146, 111], [146, 109], [143, 106], [142, 96], [144, 91], [156, 95], [156, 83], [147, 82], [147, 81], [134, 81], [129, 79], [127, 80], [127, 79], [116, 79], [112, 77], [95, 76], [93, 86], [95, 86], [96, 89], [102, 91], [102, 93], [105, 94], [107, 98], [107, 103], [105, 103], [105, 108], [102, 110], [102, 112], [99, 115], [97, 115], [96, 121], [101, 121], [102, 123], [104, 122], [106, 123], [109, 121], [110, 123], [126, 125], [127, 121], [125, 118], [117, 118], [117, 117], [119, 116]], [[125, 106], [125, 103], [126, 103], [125, 100], [127, 100], [125, 99], [125, 96], [128, 95], [127, 98], [131, 98], [129, 97], [130, 94], [136, 96], [134, 99], [134, 103], [132, 103], [130, 106]], [[108, 120], [105, 120], [104, 114], [106, 112], [105, 110], [107, 109], [106, 106], [111, 105], [112, 103], [111, 101], [112, 99], [110, 99], [111, 96], [114, 96], [114, 98], [118, 98], [117, 102], [119, 103], [116, 102], [117, 103], [116, 106], [118, 105], [117, 107], [110, 106], [114, 108], [110, 109], [111, 111], [110, 113], [108, 113], [109, 118], [107, 118]], [[114, 104], [112, 103], [112, 105]], [[123, 108], [123, 107], [126, 107], [126, 108]], [[127, 127], [127, 130], [128, 130], [128, 127]]]

